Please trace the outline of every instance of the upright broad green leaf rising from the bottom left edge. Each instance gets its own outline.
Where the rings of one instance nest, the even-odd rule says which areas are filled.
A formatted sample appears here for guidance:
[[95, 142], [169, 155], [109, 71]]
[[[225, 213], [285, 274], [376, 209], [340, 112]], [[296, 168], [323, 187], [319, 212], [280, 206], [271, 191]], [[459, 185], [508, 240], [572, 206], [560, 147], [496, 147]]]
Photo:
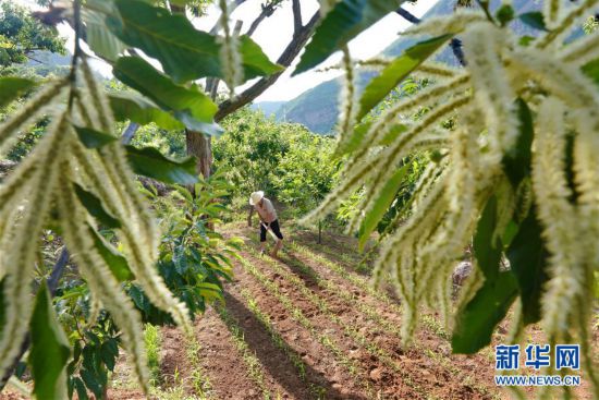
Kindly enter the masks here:
[[64, 368], [71, 354], [71, 346], [58, 323], [46, 282], [41, 283], [36, 295], [29, 335], [32, 349], [28, 363], [34, 377], [35, 397], [37, 399], [65, 398]]

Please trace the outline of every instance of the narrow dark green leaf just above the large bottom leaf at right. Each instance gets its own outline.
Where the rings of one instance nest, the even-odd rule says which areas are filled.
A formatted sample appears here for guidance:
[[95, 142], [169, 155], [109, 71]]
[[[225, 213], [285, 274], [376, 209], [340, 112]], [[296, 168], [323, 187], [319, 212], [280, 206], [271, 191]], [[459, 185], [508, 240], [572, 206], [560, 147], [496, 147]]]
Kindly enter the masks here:
[[473, 241], [477, 266], [485, 275], [485, 279], [491, 281], [494, 280], [499, 274], [499, 263], [503, 251], [501, 239], [497, 238], [493, 241], [497, 220], [497, 197], [492, 196], [487, 202], [482, 215], [478, 220]]

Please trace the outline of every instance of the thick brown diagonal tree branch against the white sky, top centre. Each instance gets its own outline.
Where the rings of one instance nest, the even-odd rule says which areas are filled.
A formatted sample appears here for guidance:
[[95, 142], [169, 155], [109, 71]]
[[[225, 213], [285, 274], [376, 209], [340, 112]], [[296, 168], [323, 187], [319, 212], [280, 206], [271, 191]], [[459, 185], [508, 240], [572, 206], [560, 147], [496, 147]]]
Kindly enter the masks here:
[[[316, 23], [320, 20], [320, 12], [317, 11], [310, 21], [302, 27], [300, 33], [294, 36], [290, 41], [281, 57], [277, 60], [277, 63], [283, 66], [289, 66], [293, 60], [297, 57], [300, 51], [304, 48], [304, 45], [310, 38]], [[229, 99], [219, 105], [219, 110], [215, 116], [215, 120], [218, 122], [230, 113], [239, 110], [243, 106], [253, 101], [256, 97], [260, 96], [267, 88], [269, 88], [283, 74], [284, 71], [278, 72], [270, 76], [265, 76], [256, 82], [254, 85], [245, 89], [234, 99]]]

